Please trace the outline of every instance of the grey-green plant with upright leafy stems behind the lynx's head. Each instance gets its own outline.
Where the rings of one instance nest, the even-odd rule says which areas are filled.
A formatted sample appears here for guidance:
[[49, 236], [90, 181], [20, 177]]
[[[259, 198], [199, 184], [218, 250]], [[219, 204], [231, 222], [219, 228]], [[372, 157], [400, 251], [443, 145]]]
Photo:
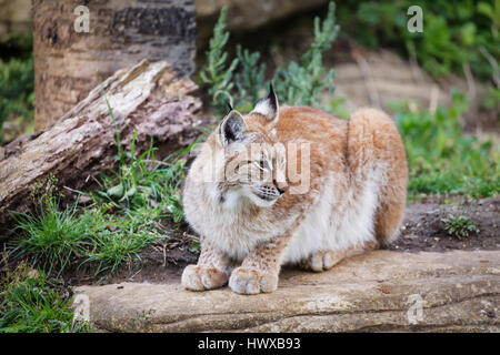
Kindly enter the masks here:
[[[333, 92], [334, 70], [324, 69], [322, 53], [330, 48], [339, 31], [334, 11], [336, 6], [330, 2], [326, 19], [322, 22], [319, 18], [314, 19], [314, 41], [300, 60], [276, 70], [271, 81], [282, 102], [321, 105], [321, 94]], [[237, 45], [237, 58], [227, 67], [228, 54], [223, 48], [229, 33], [224, 31], [224, 28], [226, 8], [220, 13], [210, 40], [210, 50], [207, 52], [208, 63], [200, 74], [203, 82], [209, 85], [208, 93], [219, 113], [226, 108], [228, 100], [238, 110], [250, 110], [269, 88], [269, 83], [264, 80], [266, 64], [259, 64], [258, 52], [251, 53], [243, 50], [241, 45]], [[237, 92], [233, 90], [233, 81]], [[220, 93], [223, 93], [226, 98], [222, 98]], [[329, 106], [327, 105], [326, 109]]]

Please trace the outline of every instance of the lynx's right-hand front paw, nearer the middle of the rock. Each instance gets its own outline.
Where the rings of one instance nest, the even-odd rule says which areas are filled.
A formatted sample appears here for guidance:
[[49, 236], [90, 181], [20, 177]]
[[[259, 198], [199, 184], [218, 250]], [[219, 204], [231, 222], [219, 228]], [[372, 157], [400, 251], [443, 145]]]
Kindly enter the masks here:
[[229, 278], [229, 287], [240, 294], [254, 295], [278, 288], [278, 275], [264, 273], [256, 267], [240, 266]]

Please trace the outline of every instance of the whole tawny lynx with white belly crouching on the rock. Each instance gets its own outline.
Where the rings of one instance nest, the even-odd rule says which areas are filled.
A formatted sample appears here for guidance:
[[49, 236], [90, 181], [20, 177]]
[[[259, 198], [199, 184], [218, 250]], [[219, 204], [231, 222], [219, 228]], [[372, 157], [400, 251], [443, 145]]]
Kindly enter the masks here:
[[201, 254], [182, 285], [273, 292], [282, 265], [322, 272], [389, 243], [407, 180], [401, 138], [383, 112], [361, 109], [344, 121], [280, 106], [271, 87], [250, 113], [231, 109], [190, 168], [183, 207]]

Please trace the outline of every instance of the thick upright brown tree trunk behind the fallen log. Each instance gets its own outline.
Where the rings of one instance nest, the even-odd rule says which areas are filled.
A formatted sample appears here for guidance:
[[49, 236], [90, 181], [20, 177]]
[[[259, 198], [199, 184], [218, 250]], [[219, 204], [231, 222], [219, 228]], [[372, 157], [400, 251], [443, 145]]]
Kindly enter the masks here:
[[32, 0], [32, 7], [36, 130], [101, 79], [144, 58], [167, 60], [180, 74], [194, 72], [193, 0]]

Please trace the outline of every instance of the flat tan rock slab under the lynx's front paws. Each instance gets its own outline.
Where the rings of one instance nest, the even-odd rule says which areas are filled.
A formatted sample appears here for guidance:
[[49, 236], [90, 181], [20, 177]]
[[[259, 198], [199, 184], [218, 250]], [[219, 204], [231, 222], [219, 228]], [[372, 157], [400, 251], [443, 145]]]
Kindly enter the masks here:
[[500, 251], [374, 251], [316, 274], [283, 270], [271, 294], [169, 284], [80, 286], [109, 332], [500, 332]]

